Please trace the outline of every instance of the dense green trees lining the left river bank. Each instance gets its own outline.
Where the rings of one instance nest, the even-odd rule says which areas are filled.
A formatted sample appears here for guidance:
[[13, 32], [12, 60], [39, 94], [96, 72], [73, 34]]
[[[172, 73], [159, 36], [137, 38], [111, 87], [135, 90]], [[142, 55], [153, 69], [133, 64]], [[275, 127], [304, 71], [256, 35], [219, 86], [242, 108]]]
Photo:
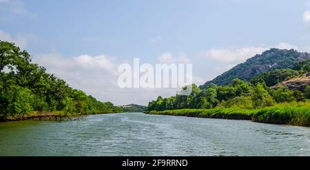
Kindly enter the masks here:
[[0, 117], [32, 111], [65, 113], [118, 112], [111, 102], [97, 101], [31, 62], [27, 51], [0, 41]]

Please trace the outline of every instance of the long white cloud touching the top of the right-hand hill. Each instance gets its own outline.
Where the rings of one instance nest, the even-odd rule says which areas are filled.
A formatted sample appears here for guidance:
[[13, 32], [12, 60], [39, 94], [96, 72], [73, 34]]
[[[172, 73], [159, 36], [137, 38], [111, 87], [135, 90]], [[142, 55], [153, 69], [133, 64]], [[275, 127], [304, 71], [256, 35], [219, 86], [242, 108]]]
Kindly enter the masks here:
[[[272, 46], [278, 49], [298, 49], [298, 47], [289, 45], [287, 43], [281, 42], [278, 45]], [[210, 60], [237, 64], [240, 62], [245, 62], [248, 58], [255, 56], [256, 54], [262, 53], [271, 47], [242, 47], [240, 49], [209, 49], [201, 53], [202, 56]]]

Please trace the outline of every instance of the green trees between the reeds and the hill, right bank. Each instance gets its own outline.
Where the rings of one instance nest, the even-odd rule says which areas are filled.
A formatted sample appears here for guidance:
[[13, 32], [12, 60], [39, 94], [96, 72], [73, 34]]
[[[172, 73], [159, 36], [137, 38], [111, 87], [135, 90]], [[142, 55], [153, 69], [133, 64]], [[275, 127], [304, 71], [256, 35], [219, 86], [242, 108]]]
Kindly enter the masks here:
[[212, 86], [200, 90], [195, 84], [189, 96], [158, 97], [150, 101], [147, 111], [178, 110], [185, 108], [210, 109], [223, 108], [258, 109], [277, 103], [304, 101], [309, 99], [310, 88], [305, 91], [289, 90], [287, 87], [270, 89], [264, 83], [250, 84], [242, 80], [233, 80], [228, 86]]

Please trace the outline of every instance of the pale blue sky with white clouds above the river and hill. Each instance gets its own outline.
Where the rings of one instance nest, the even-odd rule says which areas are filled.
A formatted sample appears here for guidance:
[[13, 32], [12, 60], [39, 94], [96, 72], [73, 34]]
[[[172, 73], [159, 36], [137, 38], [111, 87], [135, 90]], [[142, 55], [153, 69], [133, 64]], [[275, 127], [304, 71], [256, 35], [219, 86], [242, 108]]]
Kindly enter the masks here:
[[192, 63], [200, 85], [271, 47], [310, 51], [310, 1], [0, 0], [0, 40], [96, 99], [146, 105], [178, 89], [119, 88], [119, 64]]

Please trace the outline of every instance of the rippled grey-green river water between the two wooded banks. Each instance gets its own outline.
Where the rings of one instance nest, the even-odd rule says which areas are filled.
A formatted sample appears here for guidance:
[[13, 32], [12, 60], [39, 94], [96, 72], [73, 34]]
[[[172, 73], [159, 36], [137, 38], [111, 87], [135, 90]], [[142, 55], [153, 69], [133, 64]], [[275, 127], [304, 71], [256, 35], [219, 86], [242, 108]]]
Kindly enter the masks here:
[[0, 156], [310, 156], [310, 128], [142, 113], [0, 123]]

